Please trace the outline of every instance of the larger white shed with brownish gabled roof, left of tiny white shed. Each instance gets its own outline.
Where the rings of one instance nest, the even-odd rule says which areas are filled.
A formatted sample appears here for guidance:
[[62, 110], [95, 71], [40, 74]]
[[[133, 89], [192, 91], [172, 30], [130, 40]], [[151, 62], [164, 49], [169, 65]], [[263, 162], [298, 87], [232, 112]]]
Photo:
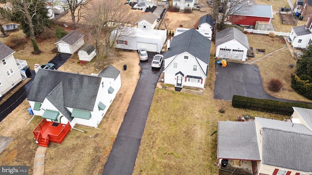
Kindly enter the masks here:
[[54, 43], [60, 53], [75, 53], [83, 44], [83, 34], [74, 30]]

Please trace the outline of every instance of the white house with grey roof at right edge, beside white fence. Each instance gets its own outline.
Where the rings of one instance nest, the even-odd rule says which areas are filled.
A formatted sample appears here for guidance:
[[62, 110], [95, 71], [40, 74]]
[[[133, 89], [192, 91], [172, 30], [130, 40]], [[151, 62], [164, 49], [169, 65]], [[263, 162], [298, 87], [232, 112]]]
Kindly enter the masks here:
[[294, 48], [307, 48], [312, 41], [312, 14], [306, 25], [292, 27], [291, 35], [287, 37]]

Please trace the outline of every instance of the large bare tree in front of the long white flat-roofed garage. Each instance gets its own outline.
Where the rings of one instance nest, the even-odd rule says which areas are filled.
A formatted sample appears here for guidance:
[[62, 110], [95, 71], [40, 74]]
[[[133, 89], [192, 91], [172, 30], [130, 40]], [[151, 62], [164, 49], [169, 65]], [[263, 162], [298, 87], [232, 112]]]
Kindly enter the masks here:
[[131, 22], [132, 17], [122, 0], [92, 1], [87, 17], [89, 34], [95, 42], [99, 69], [100, 54], [106, 58], [118, 38], [131, 35], [131, 28], [124, 26]]

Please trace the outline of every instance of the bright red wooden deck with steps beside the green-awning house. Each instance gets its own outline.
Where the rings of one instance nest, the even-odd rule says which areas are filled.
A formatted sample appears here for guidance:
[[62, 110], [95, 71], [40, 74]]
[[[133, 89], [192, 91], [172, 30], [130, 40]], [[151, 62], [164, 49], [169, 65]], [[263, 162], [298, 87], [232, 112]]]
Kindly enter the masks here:
[[67, 124], [62, 124], [48, 122], [46, 119], [42, 119], [33, 130], [33, 133], [39, 146], [48, 147], [50, 141], [54, 143], [62, 143], [71, 128], [69, 122]]

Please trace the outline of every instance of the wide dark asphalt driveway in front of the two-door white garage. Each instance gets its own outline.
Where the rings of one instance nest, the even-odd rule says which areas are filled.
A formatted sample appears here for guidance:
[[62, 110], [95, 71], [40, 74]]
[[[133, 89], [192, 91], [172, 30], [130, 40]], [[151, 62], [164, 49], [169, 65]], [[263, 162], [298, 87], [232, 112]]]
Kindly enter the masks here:
[[232, 101], [233, 95], [258, 99], [295, 102], [275, 98], [267, 94], [262, 86], [258, 66], [228, 62], [227, 67], [215, 63], [215, 99]]

